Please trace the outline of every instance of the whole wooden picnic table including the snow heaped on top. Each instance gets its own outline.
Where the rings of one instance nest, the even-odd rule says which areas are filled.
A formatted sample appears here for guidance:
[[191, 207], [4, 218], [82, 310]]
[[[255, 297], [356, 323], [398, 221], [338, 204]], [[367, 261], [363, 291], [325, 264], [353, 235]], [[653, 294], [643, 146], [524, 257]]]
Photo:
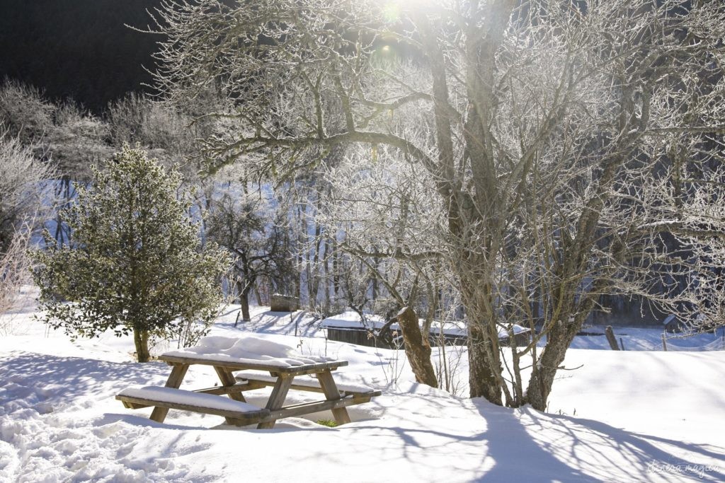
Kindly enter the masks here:
[[[128, 387], [116, 399], [127, 408], [154, 406], [151, 419], [163, 422], [169, 409], [181, 409], [224, 416], [228, 424], [258, 424], [271, 428], [277, 419], [331, 410], [338, 424], [350, 421], [347, 406], [367, 403], [380, 391], [356, 385], [338, 387], [332, 371], [347, 366], [322, 356], [300, 356], [289, 345], [259, 337], [204, 337], [198, 345], [164, 353], [159, 360], [172, 366], [165, 387]], [[181, 382], [190, 366], [214, 367], [220, 386], [200, 390], [181, 390]], [[235, 371], [244, 371], [235, 376]], [[310, 374], [316, 378], [294, 378]], [[243, 392], [273, 386], [265, 408], [247, 403]], [[324, 400], [284, 406], [290, 389], [323, 392]], [[225, 396], [228, 396], [226, 398]]]

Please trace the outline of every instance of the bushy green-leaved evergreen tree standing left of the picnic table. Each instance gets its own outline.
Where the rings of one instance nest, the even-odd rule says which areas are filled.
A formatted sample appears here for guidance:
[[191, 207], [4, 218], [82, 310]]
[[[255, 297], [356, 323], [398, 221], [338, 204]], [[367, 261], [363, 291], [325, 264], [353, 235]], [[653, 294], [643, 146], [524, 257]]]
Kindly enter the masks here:
[[133, 332], [146, 362], [149, 336], [212, 321], [231, 261], [215, 245], [200, 250], [180, 184], [178, 172], [140, 148], [125, 146], [106, 169], [94, 169], [90, 187], [61, 213], [70, 245], [46, 232], [46, 250], [33, 253], [44, 322], [74, 337]]

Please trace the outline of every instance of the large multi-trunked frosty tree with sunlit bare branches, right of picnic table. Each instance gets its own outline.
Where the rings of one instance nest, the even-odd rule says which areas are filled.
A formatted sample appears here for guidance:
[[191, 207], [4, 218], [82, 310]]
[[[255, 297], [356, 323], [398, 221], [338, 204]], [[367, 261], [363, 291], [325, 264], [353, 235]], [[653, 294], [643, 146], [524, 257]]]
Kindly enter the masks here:
[[[240, 127], [207, 139], [210, 171], [284, 176], [355, 144], [422, 168], [471, 396], [543, 410], [602, 294], [722, 322], [721, 2], [191, 0], [159, 15], [161, 91], [183, 104], [213, 86], [236, 105], [216, 113]], [[515, 321], [545, 347], [500, 347]]]

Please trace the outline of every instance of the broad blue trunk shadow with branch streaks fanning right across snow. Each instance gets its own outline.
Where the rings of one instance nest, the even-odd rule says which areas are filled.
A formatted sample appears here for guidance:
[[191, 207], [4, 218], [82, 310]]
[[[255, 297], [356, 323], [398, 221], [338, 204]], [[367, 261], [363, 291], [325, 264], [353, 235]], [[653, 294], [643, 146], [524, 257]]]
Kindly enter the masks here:
[[[686, 476], [725, 481], [722, 467], [697, 471], [713, 458], [722, 461], [723, 448], [628, 432], [591, 419], [540, 413], [530, 406], [510, 410], [484, 400], [473, 402], [486, 419], [488, 454], [496, 461], [484, 475], [486, 481], [508, 481], [522, 471], [528, 481], [651, 481], [655, 472], [666, 481], [682, 481]], [[533, 466], [534, 471], [521, 466]]]

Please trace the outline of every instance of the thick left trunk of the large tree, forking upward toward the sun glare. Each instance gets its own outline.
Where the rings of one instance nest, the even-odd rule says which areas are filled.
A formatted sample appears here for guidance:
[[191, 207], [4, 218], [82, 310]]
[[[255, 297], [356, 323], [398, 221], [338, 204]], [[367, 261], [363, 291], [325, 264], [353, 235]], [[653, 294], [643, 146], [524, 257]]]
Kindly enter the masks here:
[[[471, 25], [471, 35], [466, 49], [466, 80], [468, 81], [468, 117], [465, 122], [465, 154], [468, 157], [471, 169], [473, 170], [473, 184], [476, 196], [471, 197], [469, 193], [462, 190], [457, 165], [455, 163], [455, 149], [453, 133], [451, 128], [447, 87], [446, 62], [444, 54], [436, 41], [437, 35], [430, 24], [421, 16], [420, 27], [423, 31], [423, 38], [426, 39], [428, 59], [431, 61], [431, 74], [433, 78], [434, 112], [436, 122], [436, 147], [438, 148], [438, 170], [434, 176], [439, 182], [437, 190], [444, 200], [447, 201], [449, 232], [457, 243], [457, 250], [460, 251], [460, 259], [457, 263], [464, 266], [457, 267], [457, 274], [460, 277], [460, 288], [463, 293], [466, 316], [468, 318], [468, 361], [469, 361], [469, 382], [471, 385], [471, 397], [484, 397], [494, 404], [502, 404], [503, 382], [501, 377], [502, 367], [498, 353], [494, 319], [490, 300], [490, 290], [480, 290], [481, 277], [491, 276], [492, 272], [486, 269], [488, 261], [495, 259], [496, 249], [484, 243], [486, 256], [477, 256], [471, 251], [469, 242], [480, 240], [476, 229], [476, 221], [482, 221], [493, 225], [494, 230], [489, 230], [489, 237], [495, 237], [500, 232], [497, 226], [497, 194], [496, 174], [494, 172], [494, 153], [492, 148], [492, 135], [489, 130], [490, 121], [494, 117], [492, 106], [495, 101], [494, 89], [494, 66], [495, 53], [502, 43], [505, 26], [515, 7], [513, 0], [496, 0], [486, 4], [486, 32], [482, 38], [480, 29]], [[481, 7], [484, 9], [484, 7]], [[473, 206], [477, 208], [472, 211]], [[480, 219], [480, 218], [483, 219]], [[479, 243], [479, 242], [476, 242]], [[490, 255], [490, 256], [488, 256]], [[483, 282], [489, 282], [483, 280]], [[474, 287], [479, 287], [478, 290]], [[481, 292], [481, 293], [476, 293]], [[483, 298], [483, 299], [482, 299]], [[483, 302], [483, 306], [481, 306]], [[482, 307], [488, 307], [482, 311]]]

